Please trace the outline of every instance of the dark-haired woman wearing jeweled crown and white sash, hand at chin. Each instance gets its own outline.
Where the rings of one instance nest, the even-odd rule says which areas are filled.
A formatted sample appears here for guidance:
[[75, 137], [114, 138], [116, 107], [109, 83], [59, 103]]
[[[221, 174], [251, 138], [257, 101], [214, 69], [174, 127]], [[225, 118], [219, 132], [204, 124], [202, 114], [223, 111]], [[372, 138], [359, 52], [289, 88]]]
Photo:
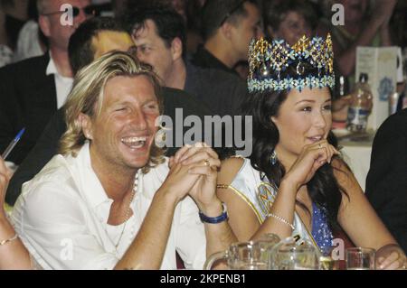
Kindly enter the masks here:
[[376, 267], [403, 268], [405, 255], [341, 160], [330, 133], [333, 52], [327, 40], [252, 41], [249, 95], [253, 149], [218, 175], [218, 197], [241, 241], [266, 233], [308, 240], [324, 250], [342, 228], [356, 246], [377, 250]]

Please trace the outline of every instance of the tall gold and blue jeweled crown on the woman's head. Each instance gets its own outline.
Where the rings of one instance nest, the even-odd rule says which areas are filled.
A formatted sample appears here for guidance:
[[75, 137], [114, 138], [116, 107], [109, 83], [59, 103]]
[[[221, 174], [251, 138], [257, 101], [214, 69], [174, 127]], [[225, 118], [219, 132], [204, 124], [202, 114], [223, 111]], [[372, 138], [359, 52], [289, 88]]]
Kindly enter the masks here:
[[[317, 73], [305, 71], [306, 63], [315, 67]], [[294, 66], [295, 76], [284, 73], [289, 66]], [[248, 88], [251, 92], [291, 88], [301, 91], [306, 87], [334, 88], [331, 36], [328, 33], [324, 41], [321, 37], [308, 39], [304, 35], [293, 46], [284, 40], [252, 40], [249, 48], [249, 69]]]

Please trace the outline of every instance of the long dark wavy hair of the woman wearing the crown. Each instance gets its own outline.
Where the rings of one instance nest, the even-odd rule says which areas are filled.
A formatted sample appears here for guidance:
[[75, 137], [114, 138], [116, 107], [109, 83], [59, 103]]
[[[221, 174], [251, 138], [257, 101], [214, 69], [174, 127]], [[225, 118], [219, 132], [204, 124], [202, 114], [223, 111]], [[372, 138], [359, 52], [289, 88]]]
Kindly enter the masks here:
[[[279, 130], [271, 121], [271, 116], [279, 115], [279, 107], [286, 100], [288, 94], [289, 91], [287, 90], [248, 93], [241, 106], [243, 115], [252, 116], [253, 152], [249, 157], [251, 165], [261, 172], [263, 178], [267, 176], [268, 180], [276, 187], [279, 187], [286, 171], [279, 161], [274, 165], [270, 163], [271, 153], [279, 143]], [[327, 141], [337, 148], [336, 137], [332, 132], [329, 132]], [[347, 194], [336, 181], [334, 168], [328, 163], [324, 164], [317, 170], [314, 177], [308, 181], [307, 188], [311, 200], [319, 208], [327, 210], [330, 228], [338, 228], [337, 214], [342, 200], [342, 193]], [[309, 213], [303, 203], [299, 201], [297, 203]]]

